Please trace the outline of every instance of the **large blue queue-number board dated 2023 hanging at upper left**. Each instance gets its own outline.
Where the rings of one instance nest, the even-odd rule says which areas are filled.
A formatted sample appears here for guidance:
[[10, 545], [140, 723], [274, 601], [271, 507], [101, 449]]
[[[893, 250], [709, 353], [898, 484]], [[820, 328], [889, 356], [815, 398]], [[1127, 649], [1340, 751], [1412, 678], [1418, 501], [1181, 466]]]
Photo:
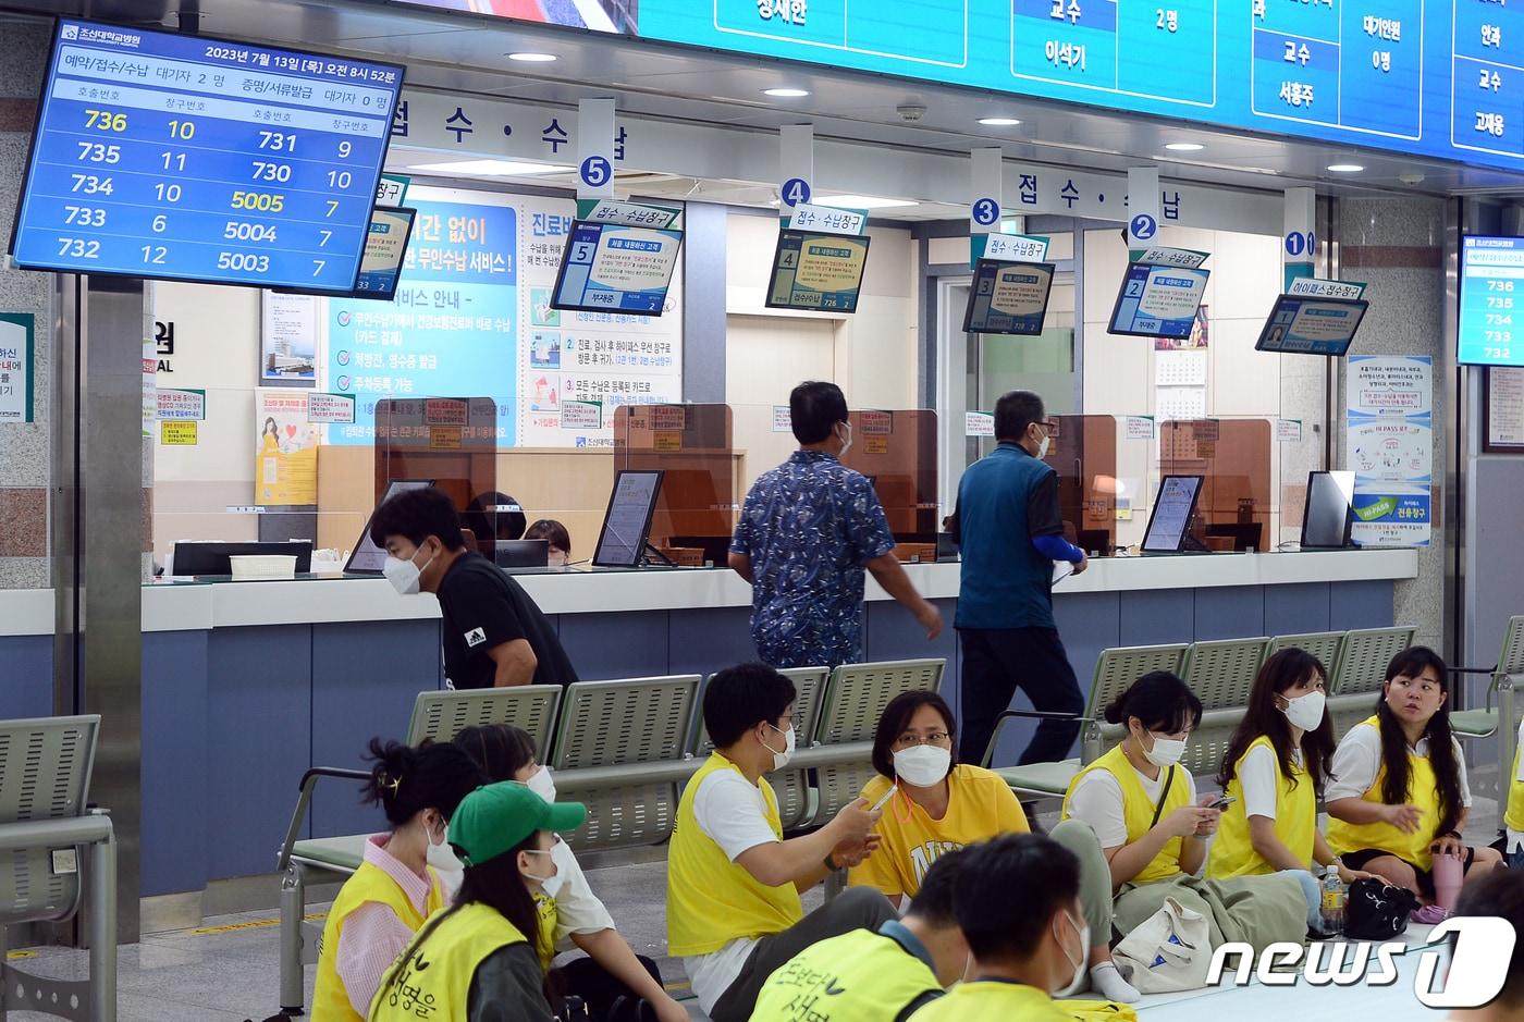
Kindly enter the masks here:
[[354, 289], [402, 69], [58, 21], [17, 265]]

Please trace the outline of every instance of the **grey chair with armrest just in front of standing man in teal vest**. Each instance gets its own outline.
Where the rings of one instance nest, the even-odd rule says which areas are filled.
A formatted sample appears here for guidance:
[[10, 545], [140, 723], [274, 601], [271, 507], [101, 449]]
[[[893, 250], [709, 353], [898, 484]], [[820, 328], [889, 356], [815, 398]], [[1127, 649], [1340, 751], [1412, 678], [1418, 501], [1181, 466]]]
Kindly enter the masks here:
[[[1120, 649], [1102, 650], [1096, 661], [1096, 672], [1090, 679], [1090, 693], [1085, 698], [1085, 711], [1077, 719], [1085, 730], [1081, 736], [1079, 759], [1059, 760], [1056, 763], [1027, 763], [1024, 766], [995, 768], [995, 772], [1010, 786], [1018, 798], [1062, 798], [1068, 792], [1070, 781], [1079, 774], [1085, 763], [1097, 760], [1106, 748], [1122, 740], [1126, 728], [1105, 723], [1102, 719], [1106, 707], [1128, 687], [1146, 673], [1167, 670], [1180, 673], [1186, 660], [1184, 643], [1169, 643], [1163, 646], [1126, 646]], [[1000, 731], [1010, 720], [1044, 719], [1050, 716], [1027, 710], [1007, 710], [995, 722], [995, 733], [985, 749], [985, 766], [994, 760], [995, 748], [1000, 743]]]

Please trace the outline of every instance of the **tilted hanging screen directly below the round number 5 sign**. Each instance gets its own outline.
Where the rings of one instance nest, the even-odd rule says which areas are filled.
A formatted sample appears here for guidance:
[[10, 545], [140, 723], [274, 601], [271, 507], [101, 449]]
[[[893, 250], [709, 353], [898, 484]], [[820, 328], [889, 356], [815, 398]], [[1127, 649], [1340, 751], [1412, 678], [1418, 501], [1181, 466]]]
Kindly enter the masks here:
[[576, 221], [550, 308], [661, 315], [683, 232]]

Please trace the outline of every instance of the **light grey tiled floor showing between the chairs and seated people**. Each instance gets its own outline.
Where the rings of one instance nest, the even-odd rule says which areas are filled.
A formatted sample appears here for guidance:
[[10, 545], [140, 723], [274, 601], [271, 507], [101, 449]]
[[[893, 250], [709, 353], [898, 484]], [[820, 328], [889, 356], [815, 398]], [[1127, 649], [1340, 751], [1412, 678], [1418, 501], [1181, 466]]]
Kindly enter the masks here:
[[[1468, 827], [1472, 842], [1490, 842], [1497, 818], [1497, 803], [1477, 798]], [[1039, 819], [1044, 826], [1055, 822], [1052, 816]], [[664, 859], [587, 865], [593, 888], [608, 905], [625, 938], [636, 952], [657, 960], [675, 993], [684, 992], [687, 981], [681, 964], [666, 957]], [[820, 897], [817, 888], [805, 899], [805, 909], [817, 906]], [[276, 937], [274, 911], [223, 915], [194, 931], [145, 935], [142, 943], [120, 949], [117, 1017], [120, 1022], [259, 1022], [274, 1014], [279, 1007]], [[37, 949], [24, 953], [34, 957], [14, 964], [29, 972], [84, 976], [84, 952]], [[309, 966], [309, 998], [312, 972]], [[41, 1022], [50, 1016], [15, 1011], [9, 1017], [12, 1022]]]

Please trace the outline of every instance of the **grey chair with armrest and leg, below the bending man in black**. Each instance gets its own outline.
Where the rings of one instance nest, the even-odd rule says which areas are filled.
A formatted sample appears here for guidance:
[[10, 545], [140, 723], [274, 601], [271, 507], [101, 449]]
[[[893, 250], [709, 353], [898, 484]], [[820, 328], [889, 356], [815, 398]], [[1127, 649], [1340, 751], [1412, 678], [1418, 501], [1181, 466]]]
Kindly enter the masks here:
[[[535, 737], [535, 748], [544, 759], [561, 695], [561, 685], [421, 691], [407, 727], [407, 743], [418, 745], [424, 739], [448, 742], [471, 725], [512, 723]], [[280, 1010], [290, 1014], [302, 1013], [302, 966], [317, 961], [323, 934], [319, 923], [306, 920], [306, 888], [349, 879], [364, 861], [369, 838], [302, 838], [312, 792], [322, 778], [355, 783], [369, 777], [366, 771], [337, 768], [315, 768], [302, 777], [296, 812], [276, 859], [280, 874]]]

